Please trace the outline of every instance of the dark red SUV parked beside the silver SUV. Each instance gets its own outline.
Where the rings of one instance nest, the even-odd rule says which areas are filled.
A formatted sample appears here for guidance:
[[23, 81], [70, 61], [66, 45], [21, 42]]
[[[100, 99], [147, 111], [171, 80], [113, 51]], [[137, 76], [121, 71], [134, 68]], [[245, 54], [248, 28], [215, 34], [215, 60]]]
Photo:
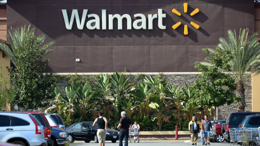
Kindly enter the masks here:
[[25, 111], [24, 113], [29, 113], [32, 114], [40, 123], [42, 126], [44, 126], [44, 138], [47, 141], [48, 145], [51, 146], [53, 141], [50, 139], [51, 137], [51, 126], [44, 116], [43, 113], [41, 112], [35, 112], [35, 111]]

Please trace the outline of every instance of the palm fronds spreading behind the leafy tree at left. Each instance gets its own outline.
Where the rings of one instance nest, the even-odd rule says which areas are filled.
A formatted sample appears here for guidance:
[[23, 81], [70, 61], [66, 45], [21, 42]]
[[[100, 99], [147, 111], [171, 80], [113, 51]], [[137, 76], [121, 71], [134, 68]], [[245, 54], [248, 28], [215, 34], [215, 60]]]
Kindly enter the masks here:
[[[14, 65], [16, 64], [16, 50], [20, 49], [24, 46], [24, 42], [26, 40], [26, 38], [30, 38], [34, 36], [34, 29], [32, 29], [30, 31], [30, 25], [28, 26], [28, 28], [26, 28], [26, 26], [21, 27], [21, 30], [13, 30], [13, 28], [11, 27], [11, 31], [12, 33], [9, 31], [10, 36], [6, 35], [6, 39], [7, 41], [10, 43], [10, 47], [5, 44], [5, 43], [0, 43], [0, 49], [9, 56], [10, 60], [12, 61], [12, 63], [14, 63]], [[39, 44], [43, 44], [44, 40], [45, 40], [45, 35], [41, 34], [38, 38]], [[47, 49], [50, 46], [52, 46], [55, 42], [51, 41], [47, 44], [45, 44], [45, 48], [46, 48], [46, 52], [45, 54], [43, 54], [42, 57], [46, 56], [47, 54], [53, 52], [53, 49]], [[39, 48], [39, 50], [41, 49], [41, 47]], [[40, 60], [37, 60], [40, 61]]]

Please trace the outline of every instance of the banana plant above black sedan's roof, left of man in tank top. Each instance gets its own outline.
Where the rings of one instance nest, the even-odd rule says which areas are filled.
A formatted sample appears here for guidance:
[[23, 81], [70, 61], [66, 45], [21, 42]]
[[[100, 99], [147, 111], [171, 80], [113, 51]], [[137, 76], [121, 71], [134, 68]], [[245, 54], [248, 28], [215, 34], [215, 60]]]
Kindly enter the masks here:
[[88, 84], [88, 82], [86, 82], [84, 86], [78, 86], [74, 83], [73, 89], [77, 90], [77, 88], [79, 88], [79, 90], [77, 92], [77, 99], [75, 102], [75, 111], [80, 115], [78, 121], [84, 121], [86, 113], [91, 110], [94, 110], [95, 108], [93, 105], [97, 103], [99, 100], [92, 99], [94, 97], [95, 92], [93, 91], [92, 87]]

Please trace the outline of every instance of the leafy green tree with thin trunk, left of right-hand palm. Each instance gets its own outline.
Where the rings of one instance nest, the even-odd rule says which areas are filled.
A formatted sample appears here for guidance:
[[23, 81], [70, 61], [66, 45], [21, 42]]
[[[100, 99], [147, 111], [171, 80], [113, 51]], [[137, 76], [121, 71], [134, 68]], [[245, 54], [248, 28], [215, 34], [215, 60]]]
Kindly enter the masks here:
[[199, 80], [194, 82], [193, 90], [189, 90], [188, 94], [193, 93], [194, 89], [198, 89], [203, 94], [194, 92], [196, 98], [190, 99], [190, 106], [198, 104], [218, 107], [237, 102], [239, 99], [233, 93], [236, 90], [235, 80], [229, 74], [222, 72], [231, 69], [229, 65], [232, 59], [231, 52], [219, 47], [216, 47], [214, 51], [211, 48], [204, 48], [202, 52], [209, 56], [205, 58], [206, 62], [195, 63], [195, 67], [201, 74], [198, 76]]

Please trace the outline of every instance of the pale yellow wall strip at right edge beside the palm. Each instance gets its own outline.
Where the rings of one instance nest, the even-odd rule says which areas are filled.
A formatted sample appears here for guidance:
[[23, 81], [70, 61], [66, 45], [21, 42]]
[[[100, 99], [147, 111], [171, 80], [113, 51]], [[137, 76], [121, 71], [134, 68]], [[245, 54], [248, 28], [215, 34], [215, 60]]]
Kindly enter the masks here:
[[260, 75], [252, 77], [252, 111], [260, 111]]

